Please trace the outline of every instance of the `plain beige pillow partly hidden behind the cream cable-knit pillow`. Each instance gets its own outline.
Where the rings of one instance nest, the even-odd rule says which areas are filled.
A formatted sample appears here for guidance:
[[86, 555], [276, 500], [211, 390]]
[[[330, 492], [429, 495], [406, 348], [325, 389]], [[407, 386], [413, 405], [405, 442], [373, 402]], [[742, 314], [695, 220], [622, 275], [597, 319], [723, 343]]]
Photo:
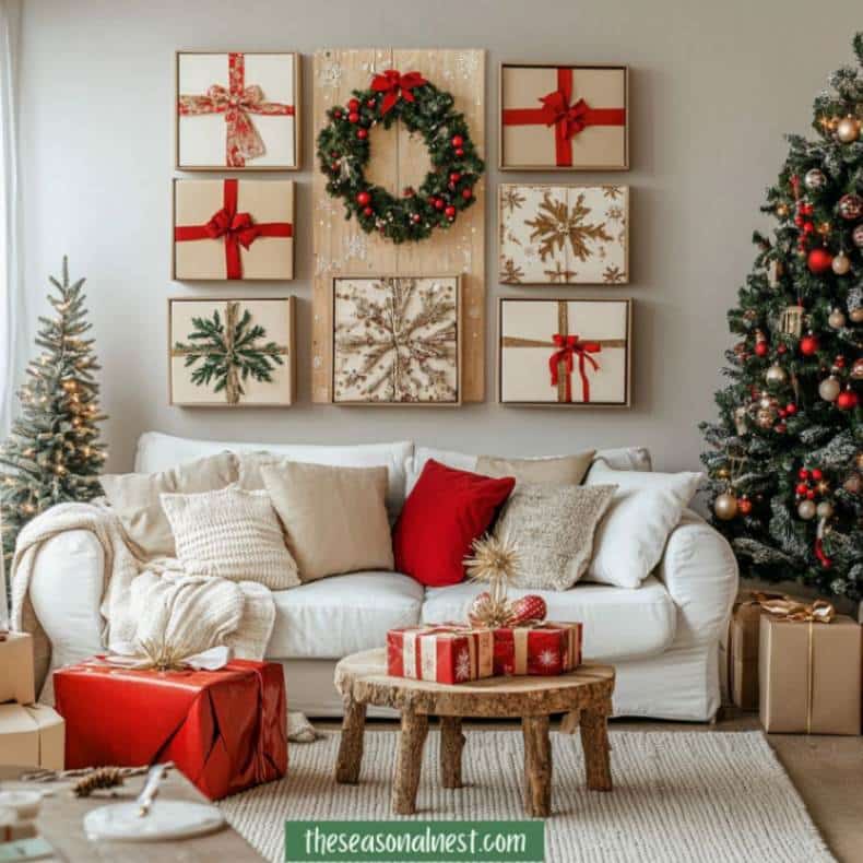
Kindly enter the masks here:
[[174, 534], [162, 503], [162, 494], [192, 494], [224, 488], [237, 481], [237, 460], [220, 452], [161, 473], [106, 474], [99, 477], [105, 497], [117, 513], [129, 539], [144, 557], [174, 557]]

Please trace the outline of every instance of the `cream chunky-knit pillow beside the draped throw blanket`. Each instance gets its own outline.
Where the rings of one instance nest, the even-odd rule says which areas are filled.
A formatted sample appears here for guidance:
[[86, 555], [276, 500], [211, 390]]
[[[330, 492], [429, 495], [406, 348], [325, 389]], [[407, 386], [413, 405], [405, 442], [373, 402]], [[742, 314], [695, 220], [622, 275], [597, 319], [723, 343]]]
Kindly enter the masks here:
[[200, 495], [162, 495], [177, 557], [190, 575], [257, 581], [270, 590], [299, 584], [267, 492], [230, 485]]

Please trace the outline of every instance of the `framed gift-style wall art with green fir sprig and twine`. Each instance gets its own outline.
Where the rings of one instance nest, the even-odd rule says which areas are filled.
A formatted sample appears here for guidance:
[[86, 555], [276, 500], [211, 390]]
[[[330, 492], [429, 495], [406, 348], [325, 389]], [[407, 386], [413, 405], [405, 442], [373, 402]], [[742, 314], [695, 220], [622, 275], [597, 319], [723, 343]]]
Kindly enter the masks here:
[[295, 370], [293, 297], [168, 300], [170, 404], [289, 405]]

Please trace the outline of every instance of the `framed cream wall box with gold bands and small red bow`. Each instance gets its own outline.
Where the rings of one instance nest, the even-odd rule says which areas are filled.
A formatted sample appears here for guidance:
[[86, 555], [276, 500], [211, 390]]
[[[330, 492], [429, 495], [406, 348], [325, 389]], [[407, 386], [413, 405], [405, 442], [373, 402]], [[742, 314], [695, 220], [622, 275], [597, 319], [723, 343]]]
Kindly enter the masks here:
[[504, 297], [503, 404], [629, 406], [633, 302]]

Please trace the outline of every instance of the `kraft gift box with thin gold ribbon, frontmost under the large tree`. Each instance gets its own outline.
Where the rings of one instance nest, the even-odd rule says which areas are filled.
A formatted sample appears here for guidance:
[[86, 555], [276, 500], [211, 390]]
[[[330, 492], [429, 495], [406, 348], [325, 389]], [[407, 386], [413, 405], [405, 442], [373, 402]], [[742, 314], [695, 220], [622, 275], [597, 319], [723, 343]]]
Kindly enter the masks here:
[[765, 731], [860, 734], [860, 624], [844, 615], [825, 624], [762, 614], [758, 686]]

